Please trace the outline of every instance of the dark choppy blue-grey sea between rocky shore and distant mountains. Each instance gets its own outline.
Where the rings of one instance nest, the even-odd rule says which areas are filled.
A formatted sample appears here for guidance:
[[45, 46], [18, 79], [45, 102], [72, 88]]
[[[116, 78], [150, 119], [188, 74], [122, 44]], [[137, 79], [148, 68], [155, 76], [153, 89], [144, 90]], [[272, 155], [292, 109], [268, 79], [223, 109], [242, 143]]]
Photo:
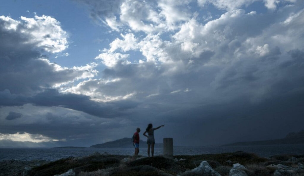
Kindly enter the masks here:
[[[260, 157], [274, 155], [304, 155], [304, 144], [254, 145], [254, 146], [203, 146], [174, 147], [174, 155], [219, 154], [244, 151]], [[0, 161], [3, 160], [48, 160], [54, 161], [67, 157], [82, 157], [98, 152], [100, 154], [133, 155], [134, 148], [0, 148]], [[154, 148], [154, 155], [162, 155], [163, 148]], [[147, 148], [140, 147], [139, 155], [147, 157]]]

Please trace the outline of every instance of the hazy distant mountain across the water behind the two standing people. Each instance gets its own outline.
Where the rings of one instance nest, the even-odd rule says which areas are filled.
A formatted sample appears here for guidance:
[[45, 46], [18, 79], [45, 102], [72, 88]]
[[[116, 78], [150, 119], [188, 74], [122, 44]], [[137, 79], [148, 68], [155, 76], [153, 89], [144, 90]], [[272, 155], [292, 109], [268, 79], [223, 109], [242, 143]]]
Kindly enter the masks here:
[[[139, 145], [141, 146], [147, 146], [147, 142], [140, 140]], [[92, 145], [90, 148], [132, 148], [133, 143], [131, 142], [131, 138], [125, 137], [122, 139], [118, 139], [111, 142], [101, 143]], [[155, 143], [154, 147], [163, 147], [162, 143]]]

